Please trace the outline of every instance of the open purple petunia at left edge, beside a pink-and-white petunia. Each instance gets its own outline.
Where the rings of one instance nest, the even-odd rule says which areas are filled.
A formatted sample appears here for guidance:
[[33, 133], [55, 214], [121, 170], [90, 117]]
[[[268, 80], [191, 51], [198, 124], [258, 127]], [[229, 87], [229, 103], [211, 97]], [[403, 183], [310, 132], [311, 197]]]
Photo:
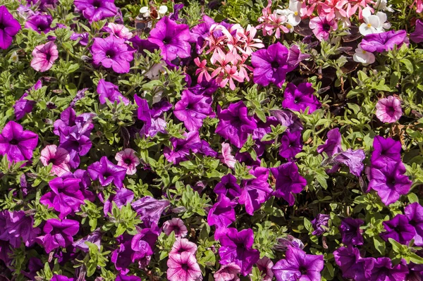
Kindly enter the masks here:
[[9, 121], [0, 134], [0, 154], [7, 154], [9, 162], [30, 161], [32, 152], [38, 143], [38, 135], [23, 127]]

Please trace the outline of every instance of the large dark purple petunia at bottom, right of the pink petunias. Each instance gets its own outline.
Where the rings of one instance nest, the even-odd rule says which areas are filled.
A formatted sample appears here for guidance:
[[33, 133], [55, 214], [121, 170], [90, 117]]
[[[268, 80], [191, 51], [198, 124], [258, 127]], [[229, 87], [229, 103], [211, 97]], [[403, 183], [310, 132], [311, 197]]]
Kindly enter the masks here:
[[251, 273], [252, 266], [259, 260], [257, 249], [252, 249], [254, 233], [251, 228], [238, 232], [236, 228], [228, 228], [225, 235], [220, 237], [219, 248], [220, 263], [226, 265], [234, 262], [241, 268], [241, 274], [247, 276]]

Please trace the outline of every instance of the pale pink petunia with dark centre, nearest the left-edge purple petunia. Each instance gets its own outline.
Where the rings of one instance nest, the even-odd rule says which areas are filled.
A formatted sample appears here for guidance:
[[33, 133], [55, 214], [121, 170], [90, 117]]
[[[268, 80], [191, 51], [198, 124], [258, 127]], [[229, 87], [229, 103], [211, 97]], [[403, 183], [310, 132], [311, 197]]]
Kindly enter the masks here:
[[66, 149], [57, 147], [55, 144], [47, 145], [42, 149], [41, 156], [39, 156], [39, 161], [44, 166], [49, 166], [51, 163], [51, 173], [60, 177], [64, 173], [70, 172], [71, 167], [69, 167], [69, 152]]

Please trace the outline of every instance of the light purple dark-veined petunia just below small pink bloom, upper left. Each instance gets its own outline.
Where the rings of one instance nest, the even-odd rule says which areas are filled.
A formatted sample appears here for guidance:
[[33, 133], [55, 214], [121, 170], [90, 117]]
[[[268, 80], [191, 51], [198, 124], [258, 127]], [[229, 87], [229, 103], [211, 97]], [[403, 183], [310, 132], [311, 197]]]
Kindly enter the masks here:
[[135, 49], [125, 44], [125, 39], [109, 36], [94, 38], [91, 46], [92, 62], [94, 65], [103, 65], [112, 68], [116, 73], [128, 73], [130, 62], [134, 59]]

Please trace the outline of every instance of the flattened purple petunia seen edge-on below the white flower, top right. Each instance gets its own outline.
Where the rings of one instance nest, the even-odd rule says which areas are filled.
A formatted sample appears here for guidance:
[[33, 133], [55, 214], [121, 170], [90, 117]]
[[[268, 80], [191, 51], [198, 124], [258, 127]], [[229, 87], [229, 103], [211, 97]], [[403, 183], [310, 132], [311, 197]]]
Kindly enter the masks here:
[[390, 30], [364, 36], [361, 48], [371, 53], [374, 51], [381, 53], [391, 51], [394, 46], [400, 47], [402, 44], [408, 44], [407, 32], [405, 30]]

